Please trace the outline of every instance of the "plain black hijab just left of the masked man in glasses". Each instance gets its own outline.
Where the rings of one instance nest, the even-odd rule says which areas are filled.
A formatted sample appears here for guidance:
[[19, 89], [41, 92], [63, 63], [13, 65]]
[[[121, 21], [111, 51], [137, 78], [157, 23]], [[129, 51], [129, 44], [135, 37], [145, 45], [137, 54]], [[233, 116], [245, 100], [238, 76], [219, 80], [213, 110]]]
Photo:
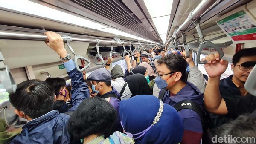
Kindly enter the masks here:
[[126, 77], [126, 82], [132, 93], [131, 97], [134, 95], [151, 95], [150, 87], [144, 75], [140, 73], [129, 75]]

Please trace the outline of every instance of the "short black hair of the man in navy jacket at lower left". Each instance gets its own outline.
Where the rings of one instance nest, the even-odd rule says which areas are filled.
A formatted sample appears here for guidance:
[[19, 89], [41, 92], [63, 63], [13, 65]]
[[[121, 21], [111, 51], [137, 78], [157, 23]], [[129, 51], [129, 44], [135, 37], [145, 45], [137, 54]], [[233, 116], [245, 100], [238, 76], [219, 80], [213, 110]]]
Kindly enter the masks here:
[[14, 94], [9, 95], [13, 107], [30, 118], [38, 118], [53, 108], [54, 90], [46, 81], [28, 80], [17, 85]]

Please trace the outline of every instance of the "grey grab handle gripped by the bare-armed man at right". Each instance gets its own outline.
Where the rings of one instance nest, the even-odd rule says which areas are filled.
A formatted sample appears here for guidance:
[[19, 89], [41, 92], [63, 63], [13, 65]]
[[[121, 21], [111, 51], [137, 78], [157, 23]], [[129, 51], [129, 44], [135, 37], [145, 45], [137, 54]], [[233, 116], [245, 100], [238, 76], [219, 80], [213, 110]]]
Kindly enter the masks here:
[[222, 58], [224, 56], [224, 52], [222, 52], [221, 49], [218, 48], [218, 46], [216, 46], [214, 43], [212, 43], [208, 40], [204, 40], [200, 43], [200, 45], [198, 47], [196, 62], [199, 63], [199, 64], [207, 63], [207, 61], [201, 61], [200, 60], [200, 55], [201, 55], [201, 52], [204, 48], [214, 48], [220, 54], [220, 58]]

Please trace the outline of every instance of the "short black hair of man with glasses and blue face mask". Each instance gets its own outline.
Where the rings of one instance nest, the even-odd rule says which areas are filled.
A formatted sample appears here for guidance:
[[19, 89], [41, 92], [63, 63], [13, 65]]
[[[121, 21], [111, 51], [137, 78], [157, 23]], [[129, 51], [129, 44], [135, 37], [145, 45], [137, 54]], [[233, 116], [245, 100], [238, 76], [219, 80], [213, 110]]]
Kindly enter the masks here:
[[178, 54], [169, 54], [157, 60], [157, 64], [165, 64], [172, 72], [181, 72], [181, 80], [185, 81], [186, 78], [186, 58]]

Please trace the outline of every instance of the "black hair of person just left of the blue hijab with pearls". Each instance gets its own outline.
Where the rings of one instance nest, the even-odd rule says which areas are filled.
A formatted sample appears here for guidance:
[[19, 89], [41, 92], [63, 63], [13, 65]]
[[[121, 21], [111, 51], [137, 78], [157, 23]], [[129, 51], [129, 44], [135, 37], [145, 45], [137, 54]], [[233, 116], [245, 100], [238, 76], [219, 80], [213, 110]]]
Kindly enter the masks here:
[[105, 99], [87, 98], [81, 102], [68, 122], [68, 131], [79, 140], [89, 135], [105, 135], [113, 132], [116, 124], [116, 109]]

